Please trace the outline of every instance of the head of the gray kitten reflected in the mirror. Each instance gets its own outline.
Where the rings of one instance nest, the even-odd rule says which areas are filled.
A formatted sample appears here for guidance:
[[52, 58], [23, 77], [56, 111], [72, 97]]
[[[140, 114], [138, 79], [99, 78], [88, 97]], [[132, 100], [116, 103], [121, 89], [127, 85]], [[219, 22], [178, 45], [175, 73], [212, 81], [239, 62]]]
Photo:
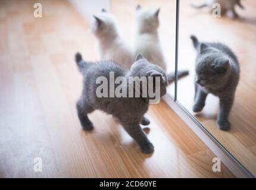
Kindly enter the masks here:
[[196, 64], [196, 83], [202, 87], [217, 89], [229, 78], [229, 59], [218, 57], [214, 53], [210, 56], [203, 56]]

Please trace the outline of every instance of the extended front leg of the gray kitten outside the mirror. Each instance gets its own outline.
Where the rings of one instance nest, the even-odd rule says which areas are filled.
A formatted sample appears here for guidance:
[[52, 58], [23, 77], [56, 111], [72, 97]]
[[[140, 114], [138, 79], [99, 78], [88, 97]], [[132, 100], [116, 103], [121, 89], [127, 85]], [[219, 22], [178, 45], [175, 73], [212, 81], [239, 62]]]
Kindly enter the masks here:
[[139, 144], [141, 152], [150, 154], [154, 151], [154, 145], [148, 140], [145, 133], [142, 131], [139, 122], [131, 124], [123, 124], [124, 129], [128, 134]]

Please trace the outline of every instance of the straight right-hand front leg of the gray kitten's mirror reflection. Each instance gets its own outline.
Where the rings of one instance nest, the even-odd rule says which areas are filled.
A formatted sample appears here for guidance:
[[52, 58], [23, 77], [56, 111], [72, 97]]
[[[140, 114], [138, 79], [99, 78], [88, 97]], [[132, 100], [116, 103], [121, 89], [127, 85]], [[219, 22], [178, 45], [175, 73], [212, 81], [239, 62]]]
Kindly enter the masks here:
[[234, 98], [229, 97], [220, 99], [220, 113], [218, 113], [217, 123], [221, 130], [227, 131], [230, 129], [229, 113], [233, 105]]

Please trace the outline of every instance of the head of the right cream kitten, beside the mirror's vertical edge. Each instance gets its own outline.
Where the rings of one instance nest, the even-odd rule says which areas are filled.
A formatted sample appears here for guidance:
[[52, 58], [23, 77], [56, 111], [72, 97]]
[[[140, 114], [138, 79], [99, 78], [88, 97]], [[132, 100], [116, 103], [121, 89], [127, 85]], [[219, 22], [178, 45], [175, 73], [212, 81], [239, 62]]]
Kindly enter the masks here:
[[155, 31], [159, 27], [158, 14], [160, 9], [136, 8], [136, 21], [140, 31]]

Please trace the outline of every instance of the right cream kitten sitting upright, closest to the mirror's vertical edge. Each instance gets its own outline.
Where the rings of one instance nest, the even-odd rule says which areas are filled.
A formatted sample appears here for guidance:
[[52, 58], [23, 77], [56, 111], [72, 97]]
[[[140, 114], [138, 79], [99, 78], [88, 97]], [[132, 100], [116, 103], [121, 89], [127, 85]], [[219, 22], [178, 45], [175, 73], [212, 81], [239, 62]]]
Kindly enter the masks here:
[[136, 8], [135, 52], [141, 53], [149, 62], [155, 63], [166, 71], [166, 61], [158, 38], [158, 14], [160, 9]]

